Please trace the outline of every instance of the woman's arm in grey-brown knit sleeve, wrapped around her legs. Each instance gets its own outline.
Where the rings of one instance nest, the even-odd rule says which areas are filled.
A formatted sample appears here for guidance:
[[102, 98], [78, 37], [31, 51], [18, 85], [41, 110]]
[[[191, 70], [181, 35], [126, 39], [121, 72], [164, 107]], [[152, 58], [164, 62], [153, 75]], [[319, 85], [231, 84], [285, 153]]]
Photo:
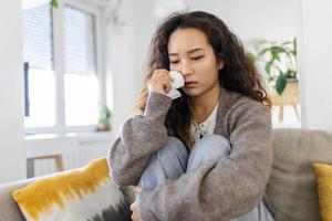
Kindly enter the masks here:
[[145, 220], [230, 220], [262, 199], [272, 166], [270, 112], [245, 99], [228, 119], [231, 154], [138, 197]]

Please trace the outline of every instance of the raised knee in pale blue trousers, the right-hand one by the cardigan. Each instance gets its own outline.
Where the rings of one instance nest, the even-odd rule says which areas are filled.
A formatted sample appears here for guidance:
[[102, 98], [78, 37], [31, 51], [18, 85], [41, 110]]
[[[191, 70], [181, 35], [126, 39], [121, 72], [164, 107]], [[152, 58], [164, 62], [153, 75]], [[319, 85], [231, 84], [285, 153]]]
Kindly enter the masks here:
[[198, 140], [190, 152], [187, 171], [195, 170], [208, 161], [228, 157], [231, 151], [229, 140], [221, 135], [210, 135]]

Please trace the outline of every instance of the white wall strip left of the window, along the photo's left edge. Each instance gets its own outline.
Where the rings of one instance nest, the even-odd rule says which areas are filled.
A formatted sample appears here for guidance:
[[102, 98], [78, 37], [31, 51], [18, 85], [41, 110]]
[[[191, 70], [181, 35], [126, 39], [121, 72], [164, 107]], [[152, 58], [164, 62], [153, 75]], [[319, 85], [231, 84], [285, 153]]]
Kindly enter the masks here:
[[20, 0], [0, 7], [0, 183], [25, 177]]

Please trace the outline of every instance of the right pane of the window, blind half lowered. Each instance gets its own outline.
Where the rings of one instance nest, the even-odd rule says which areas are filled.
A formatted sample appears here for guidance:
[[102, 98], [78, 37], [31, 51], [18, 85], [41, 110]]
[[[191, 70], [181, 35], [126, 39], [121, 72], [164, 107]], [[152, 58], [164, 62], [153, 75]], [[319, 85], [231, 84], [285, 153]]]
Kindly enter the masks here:
[[93, 125], [98, 113], [95, 22], [84, 11], [64, 9], [65, 123]]

